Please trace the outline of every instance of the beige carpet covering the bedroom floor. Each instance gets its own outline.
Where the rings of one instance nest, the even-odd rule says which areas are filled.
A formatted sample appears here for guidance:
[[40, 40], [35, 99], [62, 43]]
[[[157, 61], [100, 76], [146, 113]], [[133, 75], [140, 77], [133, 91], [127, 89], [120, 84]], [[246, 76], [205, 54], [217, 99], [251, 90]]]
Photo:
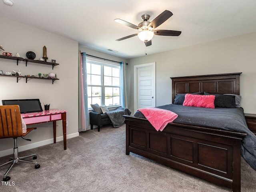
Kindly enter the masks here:
[[[20, 156], [32, 153], [38, 154], [41, 167], [14, 165], [8, 175], [15, 185], [1, 183], [1, 192], [231, 192], [136, 154], [126, 155], [124, 125], [82, 132], [67, 140], [67, 150], [58, 142]], [[0, 158], [0, 164], [8, 159]], [[1, 175], [7, 167], [0, 168]], [[241, 172], [242, 192], [255, 192], [256, 171], [243, 158]]]

